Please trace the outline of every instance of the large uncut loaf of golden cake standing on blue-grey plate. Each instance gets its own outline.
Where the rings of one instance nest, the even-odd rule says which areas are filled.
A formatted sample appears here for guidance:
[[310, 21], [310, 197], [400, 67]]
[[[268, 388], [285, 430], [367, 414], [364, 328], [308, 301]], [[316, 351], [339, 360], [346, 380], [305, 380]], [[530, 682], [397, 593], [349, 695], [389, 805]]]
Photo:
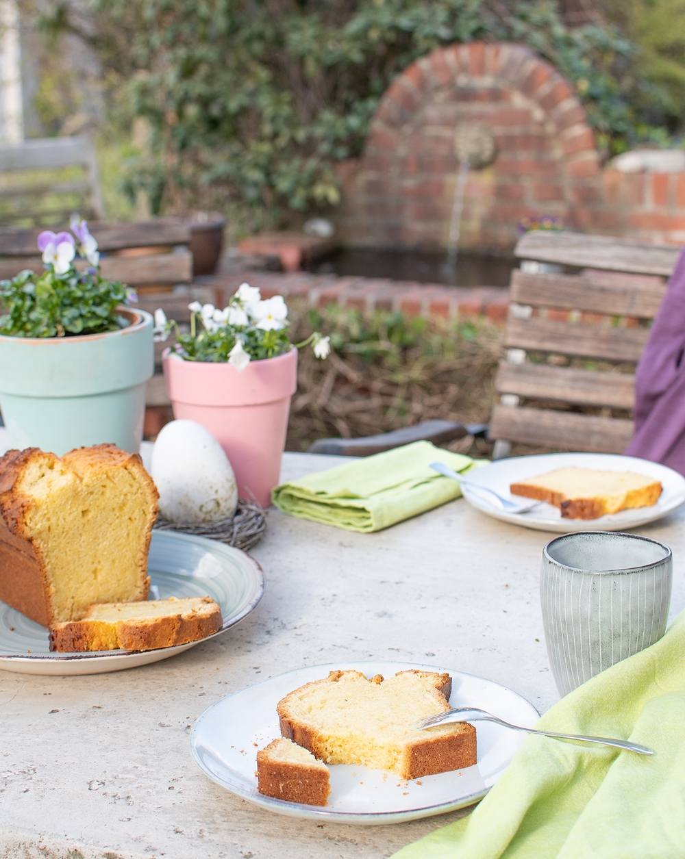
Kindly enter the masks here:
[[145, 600], [158, 493], [138, 454], [113, 444], [59, 458], [0, 459], [0, 600], [38, 624], [95, 602]]

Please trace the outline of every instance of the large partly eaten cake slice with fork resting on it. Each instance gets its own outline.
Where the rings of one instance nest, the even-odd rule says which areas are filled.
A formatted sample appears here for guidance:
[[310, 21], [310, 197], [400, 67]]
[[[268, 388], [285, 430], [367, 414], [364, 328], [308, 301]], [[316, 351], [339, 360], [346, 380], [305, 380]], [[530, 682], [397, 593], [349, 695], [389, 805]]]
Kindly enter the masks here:
[[450, 709], [451, 684], [449, 674], [426, 671], [387, 680], [332, 671], [278, 702], [281, 734], [326, 764], [364, 765], [402, 778], [461, 770], [476, 763], [472, 725], [417, 727]]

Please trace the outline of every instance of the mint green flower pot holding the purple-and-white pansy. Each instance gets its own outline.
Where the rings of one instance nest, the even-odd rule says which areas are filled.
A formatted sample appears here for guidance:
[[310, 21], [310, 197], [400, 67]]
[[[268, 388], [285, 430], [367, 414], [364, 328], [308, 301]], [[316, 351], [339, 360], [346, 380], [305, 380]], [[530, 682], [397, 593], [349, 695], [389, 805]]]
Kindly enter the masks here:
[[0, 410], [13, 448], [61, 456], [113, 442], [138, 453], [155, 370], [153, 320], [143, 310], [119, 312], [131, 325], [106, 334], [0, 336]]

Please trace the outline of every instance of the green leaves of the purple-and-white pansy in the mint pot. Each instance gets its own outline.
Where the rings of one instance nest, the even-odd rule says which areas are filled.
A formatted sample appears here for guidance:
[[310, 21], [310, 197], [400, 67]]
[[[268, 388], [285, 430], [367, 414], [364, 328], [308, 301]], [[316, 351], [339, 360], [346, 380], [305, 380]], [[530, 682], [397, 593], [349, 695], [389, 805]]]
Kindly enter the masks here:
[[117, 331], [125, 325], [115, 309], [127, 300], [126, 287], [99, 274], [64, 275], [46, 265], [39, 275], [21, 271], [0, 281], [0, 334], [10, 337], [69, 337]]

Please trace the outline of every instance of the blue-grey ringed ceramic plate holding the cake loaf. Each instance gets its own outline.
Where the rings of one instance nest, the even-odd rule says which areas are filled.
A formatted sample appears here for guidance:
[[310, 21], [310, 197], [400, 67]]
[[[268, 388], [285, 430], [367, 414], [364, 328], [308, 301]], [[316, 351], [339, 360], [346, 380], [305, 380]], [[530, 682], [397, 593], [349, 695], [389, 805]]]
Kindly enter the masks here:
[[[148, 573], [150, 600], [170, 596], [211, 596], [216, 600], [223, 615], [222, 628], [214, 633], [217, 636], [249, 614], [264, 593], [264, 574], [254, 558], [216, 540], [189, 534], [153, 531]], [[101, 674], [168, 659], [195, 644], [199, 642], [143, 653], [51, 653], [47, 630], [0, 602], [0, 668], [5, 671]]]

